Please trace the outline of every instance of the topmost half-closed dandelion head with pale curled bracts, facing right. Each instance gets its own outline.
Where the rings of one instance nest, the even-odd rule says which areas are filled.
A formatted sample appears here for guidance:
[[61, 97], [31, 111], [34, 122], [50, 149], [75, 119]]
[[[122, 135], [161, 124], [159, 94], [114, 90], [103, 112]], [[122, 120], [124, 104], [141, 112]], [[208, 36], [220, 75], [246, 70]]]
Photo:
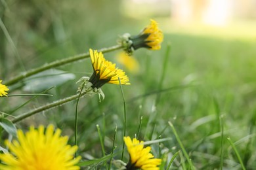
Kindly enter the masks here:
[[158, 23], [155, 20], [151, 20], [150, 25], [145, 27], [139, 35], [131, 36], [129, 33], [125, 33], [121, 37], [121, 45], [124, 50], [131, 54], [138, 48], [149, 48], [150, 50], [159, 50], [161, 48], [161, 42], [163, 41], [163, 33], [158, 28]]

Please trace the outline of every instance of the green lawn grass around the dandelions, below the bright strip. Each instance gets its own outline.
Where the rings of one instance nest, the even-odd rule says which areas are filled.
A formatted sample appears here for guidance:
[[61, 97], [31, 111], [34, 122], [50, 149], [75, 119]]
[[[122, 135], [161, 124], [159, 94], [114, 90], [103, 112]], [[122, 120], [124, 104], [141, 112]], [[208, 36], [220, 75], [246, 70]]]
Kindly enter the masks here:
[[[68, 9], [64, 5], [62, 9]], [[81, 9], [78, 12], [79, 14], [74, 15], [79, 15], [77, 20], [81, 21], [80, 15], [83, 12]], [[114, 16], [115, 12], [113, 13]], [[89, 12], [86, 14], [89, 15]], [[144, 26], [139, 21], [127, 19], [125, 16], [117, 18], [120, 22], [108, 23], [104, 18], [100, 18], [100, 14], [93, 14], [95, 18], [99, 18], [98, 22], [87, 17], [89, 24], [79, 25], [74, 21], [72, 25], [72, 16], [64, 12], [63, 16], [70, 17], [63, 19], [63, 27], [70, 37], [63, 43], [56, 41], [56, 38], [51, 36], [54, 34], [51, 31], [42, 35], [43, 28], [40, 27], [24, 31], [24, 37], [14, 44], [17, 44], [16, 48], [26, 69], [87, 52], [89, 48], [112, 46], [116, 43], [118, 34], [137, 33]], [[125, 19], [127, 22], [124, 22]], [[7, 29], [10, 29], [8, 24], [11, 21], [4, 21]], [[138, 25], [134, 27], [133, 23]], [[78, 25], [85, 31], [78, 29]], [[103, 28], [104, 25], [106, 27]], [[77, 155], [82, 156], [83, 161], [91, 160], [81, 165], [88, 169], [108, 169], [112, 157], [113, 168], [114, 162], [121, 160], [125, 101], [125, 135], [137, 136], [143, 141], [171, 137], [171, 140], [150, 144], [156, 158], [166, 158], [165, 167], [190, 169], [191, 165], [194, 165], [196, 169], [240, 169], [244, 166], [245, 169], [253, 169], [256, 167], [256, 40], [249, 38], [249, 31], [246, 31], [245, 35], [239, 32], [238, 37], [232, 37], [234, 34], [230, 33], [226, 38], [226, 32], [211, 34], [213, 30], [207, 29], [205, 33], [190, 33], [189, 29], [172, 29], [167, 25], [163, 22], [165, 39], [161, 50], [140, 49], [134, 53], [140, 63], [140, 72], [127, 72], [131, 85], [122, 86], [123, 95], [119, 86], [106, 84], [102, 87], [105, 99], [100, 103], [97, 95], [79, 99]], [[250, 29], [253, 27], [255, 26], [252, 25]], [[228, 30], [236, 31], [231, 28]], [[14, 31], [9, 33], [11, 37], [16, 35]], [[24, 39], [26, 41], [22, 44], [21, 40]], [[6, 43], [8, 46], [8, 42]], [[168, 44], [171, 44], [170, 49]], [[5, 54], [6, 58], [9, 56], [7, 61], [12, 63], [13, 58], [8, 52], [7, 50], [1, 54]], [[113, 57], [116, 52], [105, 56], [111, 61], [116, 61]], [[1, 59], [0, 63], [2, 61]], [[29, 96], [1, 97], [0, 111], [8, 114], [26, 103], [13, 112], [17, 116], [34, 107], [74, 95], [78, 88], [75, 82], [81, 76], [90, 76], [92, 73], [90, 62], [85, 59], [58, 67], [68, 73], [74, 73], [76, 78], [50, 90], [49, 93], [53, 94], [53, 97], [38, 96], [29, 104], [26, 103], [32, 99]], [[0, 79], [4, 80], [3, 83], [22, 71], [17, 65], [18, 61], [8, 66], [1, 64], [3, 72], [0, 73]], [[17, 89], [14, 90], [15, 88]], [[10, 94], [29, 93], [24, 92], [21, 87], [11, 86], [10, 89]], [[36, 114], [19, 122], [16, 127], [28, 129], [32, 124], [54, 124], [62, 129], [62, 135], [70, 137], [69, 143], [74, 144], [75, 105], [74, 101]], [[173, 124], [177, 134], [168, 122]], [[232, 139], [231, 143], [227, 137]], [[2, 133], [1, 141], [3, 139], [7, 139], [7, 133]], [[171, 160], [172, 158], [175, 159]], [[129, 155], [125, 150], [123, 161], [128, 160]]]

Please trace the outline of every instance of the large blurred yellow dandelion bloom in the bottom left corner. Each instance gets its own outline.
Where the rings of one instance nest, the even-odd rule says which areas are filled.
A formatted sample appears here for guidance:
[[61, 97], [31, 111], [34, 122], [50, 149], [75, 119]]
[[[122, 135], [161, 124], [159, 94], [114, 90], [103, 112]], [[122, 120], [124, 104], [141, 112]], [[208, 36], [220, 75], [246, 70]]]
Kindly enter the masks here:
[[[45, 131], [45, 132], [44, 132]], [[11, 153], [0, 154], [2, 170], [75, 170], [80, 157], [74, 159], [77, 146], [68, 145], [68, 137], [60, 136], [54, 126], [30, 127], [26, 134], [17, 131], [17, 141], [6, 141]]]

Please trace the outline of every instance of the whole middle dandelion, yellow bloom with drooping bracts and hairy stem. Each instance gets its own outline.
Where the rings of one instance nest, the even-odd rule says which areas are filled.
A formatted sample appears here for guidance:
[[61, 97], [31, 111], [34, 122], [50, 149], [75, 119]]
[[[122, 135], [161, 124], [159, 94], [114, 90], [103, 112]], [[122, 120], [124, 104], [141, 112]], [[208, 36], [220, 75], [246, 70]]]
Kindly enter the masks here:
[[81, 92], [72, 95], [70, 97], [66, 97], [64, 99], [59, 99], [58, 101], [54, 101], [53, 103], [48, 103], [47, 105], [43, 105], [41, 107], [37, 107], [36, 109], [30, 110], [20, 116], [17, 116], [12, 120], [12, 123], [20, 122], [24, 118], [28, 118], [33, 114], [37, 114], [38, 112], [42, 112], [44, 110], [49, 110], [54, 107], [64, 105], [70, 101], [78, 99], [79, 97], [83, 97], [84, 95], [93, 95], [98, 93], [104, 99], [104, 93], [100, 89], [106, 83], [119, 84], [119, 80], [121, 84], [130, 84], [129, 78], [125, 75], [121, 69], [116, 68], [116, 64], [107, 61], [101, 52], [97, 52], [90, 50], [91, 61], [93, 63], [93, 75], [91, 78], [87, 76], [83, 76], [80, 78], [78, 82], [81, 82], [78, 90]]

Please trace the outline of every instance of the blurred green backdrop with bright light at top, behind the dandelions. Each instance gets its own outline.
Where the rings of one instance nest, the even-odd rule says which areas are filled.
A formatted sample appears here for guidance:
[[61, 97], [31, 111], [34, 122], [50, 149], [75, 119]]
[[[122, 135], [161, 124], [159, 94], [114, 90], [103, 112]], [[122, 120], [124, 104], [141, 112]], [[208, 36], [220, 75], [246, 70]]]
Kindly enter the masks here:
[[[119, 35], [136, 35], [153, 18], [164, 33], [164, 41], [161, 50], [134, 52], [140, 64], [139, 73], [126, 71], [131, 81], [130, 86], [123, 86], [127, 135], [137, 133], [143, 116], [140, 139], [172, 137], [160, 145], [162, 152], [156, 154], [159, 157], [169, 150], [171, 158], [179, 150], [167, 124], [171, 121], [198, 169], [219, 168], [222, 147], [219, 116], [223, 115], [224, 167], [240, 167], [226, 140], [230, 137], [236, 142], [247, 169], [253, 169], [256, 167], [255, 9], [253, 1], [242, 5], [218, 2], [219, 6], [213, 1], [1, 1], [0, 79], [4, 84], [12, 76], [56, 59], [88, 52], [89, 48], [113, 46]], [[215, 13], [221, 14], [215, 16]], [[171, 52], [166, 55], [168, 45]], [[116, 62], [117, 53], [104, 56]], [[37, 97], [18, 110], [14, 109], [31, 97], [3, 98], [1, 111], [19, 115], [73, 95], [78, 87], [75, 82], [93, 72], [89, 59], [57, 69], [72, 73], [75, 78], [51, 90], [53, 97]], [[10, 86], [9, 93], [36, 92], [36, 87], [26, 92], [23, 85]], [[96, 124], [103, 129], [108, 153], [117, 125], [117, 150], [121, 148], [121, 91], [113, 84], [104, 85], [102, 90], [106, 98], [101, 103], [97, 96], [79, 101], [78, 144], [83, 160], [102, 156]], [[70, 135], [70, 143], [74, 143], [74, 114], [75, 102], [72, 102], [32, 116], [17, 126], [51, 123]], [[153, 148], [158, 152], [158, 144]], [[181, 167], [179, 161], [177, 158], [174, 169]]]

